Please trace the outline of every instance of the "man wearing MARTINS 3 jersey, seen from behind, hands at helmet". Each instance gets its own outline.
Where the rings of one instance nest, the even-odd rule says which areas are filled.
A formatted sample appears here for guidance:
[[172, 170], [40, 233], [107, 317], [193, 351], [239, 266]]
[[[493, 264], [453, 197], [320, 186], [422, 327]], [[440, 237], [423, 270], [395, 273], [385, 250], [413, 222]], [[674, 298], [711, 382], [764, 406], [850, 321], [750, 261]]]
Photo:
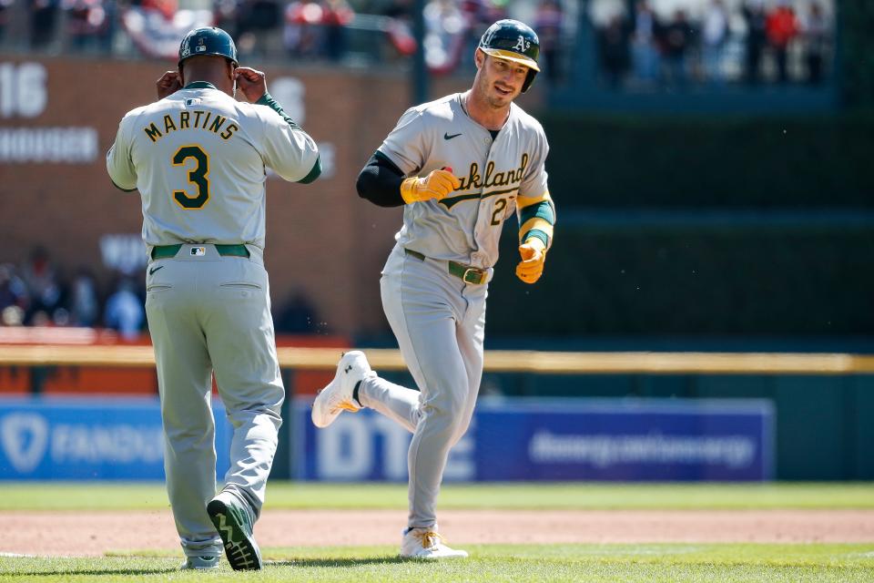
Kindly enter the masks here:
[[[234, 99], [239, 87], [249, 103]], [[315, 142], [238, 66], [231, 37], [198, 28], [158, 101], [128, 112], [107, 153], [119, 189], [138, 189], [148, 252], [146, 312], [158, 363], [170, 506], [186, 560], [261, 568], [252, 527], [264, 493], [285, 390], [264, 270], [265, 168], [308, 183]], [[233, 424], [230, 468], [216, 494], [211, 377]]]

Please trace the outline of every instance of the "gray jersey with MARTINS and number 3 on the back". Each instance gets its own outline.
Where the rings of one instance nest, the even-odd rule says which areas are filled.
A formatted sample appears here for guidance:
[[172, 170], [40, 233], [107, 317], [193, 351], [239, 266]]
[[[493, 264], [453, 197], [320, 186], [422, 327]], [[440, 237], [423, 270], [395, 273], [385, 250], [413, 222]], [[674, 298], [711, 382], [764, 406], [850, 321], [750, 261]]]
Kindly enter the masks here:
[[206, 86], [191, 84], [130, 111], [107, 154], [109, 176], [121, 189], [139, 189], [148, 246], [242, 242], [263, 249], [265, 167], [303, 179], [318, 148], [270, 107]]

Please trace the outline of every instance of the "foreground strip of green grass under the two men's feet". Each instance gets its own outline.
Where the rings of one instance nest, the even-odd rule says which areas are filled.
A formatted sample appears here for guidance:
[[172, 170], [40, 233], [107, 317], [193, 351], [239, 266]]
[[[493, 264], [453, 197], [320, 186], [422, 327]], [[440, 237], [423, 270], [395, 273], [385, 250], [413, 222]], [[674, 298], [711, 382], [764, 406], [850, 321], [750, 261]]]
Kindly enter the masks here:
[[227, 564], [210, 573], [178, 571], [178, 557], [0, 557], [3, 581], [204, 580], [429, 583], [471, 581], [874, 580], [872, 545], [483, 545], [465, 560], [424, 563], [394, 557], [393, 547], [267, 548], [257, 573]]

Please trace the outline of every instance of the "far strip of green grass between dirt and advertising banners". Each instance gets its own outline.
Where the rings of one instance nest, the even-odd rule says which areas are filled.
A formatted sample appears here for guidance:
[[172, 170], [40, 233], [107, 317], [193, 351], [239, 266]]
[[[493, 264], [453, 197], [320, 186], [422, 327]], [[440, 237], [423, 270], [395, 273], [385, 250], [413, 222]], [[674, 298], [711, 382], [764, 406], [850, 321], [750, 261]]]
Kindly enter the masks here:
[[[402, 508], [405, 485], [270, 482], [266, 508]], [[0, 483], [3, 510], [168, 507], [163, 484]], [[874, 508], [874, 483], [858, 484], [447, 484], [440, 507], [576, 509]]]

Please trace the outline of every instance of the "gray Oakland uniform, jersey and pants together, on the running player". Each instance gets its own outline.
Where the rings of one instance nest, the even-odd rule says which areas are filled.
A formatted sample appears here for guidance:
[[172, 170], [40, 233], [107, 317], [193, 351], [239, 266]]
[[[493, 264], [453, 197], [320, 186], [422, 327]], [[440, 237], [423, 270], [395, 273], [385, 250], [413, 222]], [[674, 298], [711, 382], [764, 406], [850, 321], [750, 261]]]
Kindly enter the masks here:
[[412, 432], [408, 526], [432, 528], [446, 457], [467, 431], [483, 374], [488, 283], [462, 279], [450, 261], [491, 272], [513, 210], [522, 238], [549, 246], [548, 146], [543, 128], [520, 107], [511, 106], [493, 138], [455, 94], [407, 110], [379, 150], [408, 176], [452, 167], [461, 180], [439, 202], [405, 205], [382, 271], [382, 307], [419, 391], [379, 376], [366, 377], [359, 389], [361, 404]]

